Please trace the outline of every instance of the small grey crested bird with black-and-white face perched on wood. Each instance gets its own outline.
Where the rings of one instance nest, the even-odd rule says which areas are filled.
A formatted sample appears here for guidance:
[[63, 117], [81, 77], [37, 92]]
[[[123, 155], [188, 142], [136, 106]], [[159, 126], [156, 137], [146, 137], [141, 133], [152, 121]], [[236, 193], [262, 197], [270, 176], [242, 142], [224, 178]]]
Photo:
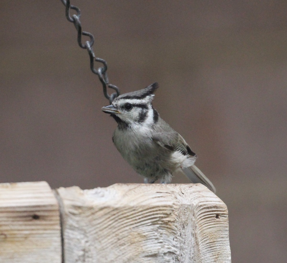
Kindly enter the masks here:
[[201, 183], [212, 192], [212, 182], [194, 165], [197, 155], [183, 137], [168, 125], [153, 107], [157, 82], [144, 89], [121, 94], [102, 107], [118, 126], [113, 143], [144, 183], [171, 183], [175, 171], [183, 172], [191, 182]]

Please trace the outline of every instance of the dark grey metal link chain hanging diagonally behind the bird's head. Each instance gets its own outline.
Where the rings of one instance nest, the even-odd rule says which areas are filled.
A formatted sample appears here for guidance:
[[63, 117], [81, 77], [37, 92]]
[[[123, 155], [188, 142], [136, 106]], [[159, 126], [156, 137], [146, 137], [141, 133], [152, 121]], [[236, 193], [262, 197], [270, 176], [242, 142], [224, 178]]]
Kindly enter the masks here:
[[[110, 103], [114, 100], [114, 98], [118, 97], [120, 95], [119, 88], [115, 85], [109, 84], [108, 81], [108, 74], [107, 74], [107, 62], [106, 60], [103, 60], [102, 58], [95, 58], [94, 51], [92, 49], [92, 45], [94, 44], [94, 36], [86, 31], [82, 31], [82, 26], [80, 22], [80, 16], [81, 16], [81, 11], [78, 7], [71, 5], [70, 0], [61, 0], [61, 2], [65, 5], [66, 7], [66, 18], [69, 22], [72, 22], [78, 31], [78, 44], [80, 47], [87, 49], [89, 56], [90, 56], [90, 68], [92, 70], [92, 73], [98, 75], [100, 82], [103, 85], [103, 91], [104, 91], [104, 96], [110, 101]], [[73, 9], [77, 12], [76, 15], [70, 16], [70, 9]], [[82, 35], [90, 37], [90, 41], [86, 41], [85, 44], [82, 43]], [[103, 64], [102, 67], [99, 67], [98, 69], [94, 68], [94, 62], [100, 62]], [[112, 93], [111, 95], [108, 94], [107, 92], [107, 86], [111, 89], [114, 89], [116, 92]]]

